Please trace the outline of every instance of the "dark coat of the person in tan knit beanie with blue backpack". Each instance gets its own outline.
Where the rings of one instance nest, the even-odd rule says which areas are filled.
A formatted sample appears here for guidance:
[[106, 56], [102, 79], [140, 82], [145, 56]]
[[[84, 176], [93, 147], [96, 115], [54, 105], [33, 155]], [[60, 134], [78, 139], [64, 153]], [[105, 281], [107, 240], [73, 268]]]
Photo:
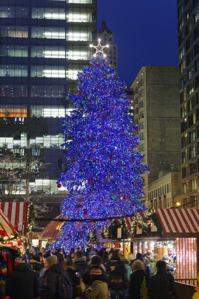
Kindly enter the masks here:
[[64, 268], [61, 264], [50, 266], [46, 275], [46, 299], [56, 299], [58, 286], [58, 276], [64, 273]]

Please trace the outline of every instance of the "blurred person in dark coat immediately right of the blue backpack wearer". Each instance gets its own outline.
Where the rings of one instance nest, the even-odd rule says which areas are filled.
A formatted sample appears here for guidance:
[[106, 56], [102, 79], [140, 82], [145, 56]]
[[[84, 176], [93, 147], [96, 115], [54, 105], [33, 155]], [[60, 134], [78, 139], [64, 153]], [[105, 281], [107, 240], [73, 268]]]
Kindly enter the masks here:
[[65, 260], [63, 263], [64, 275], [66, 275], [72, 283], [72, 299], [77, 297], [77, 287], [80, 283], [78, 275], [76, 275], [76, 270], [72, 260]]

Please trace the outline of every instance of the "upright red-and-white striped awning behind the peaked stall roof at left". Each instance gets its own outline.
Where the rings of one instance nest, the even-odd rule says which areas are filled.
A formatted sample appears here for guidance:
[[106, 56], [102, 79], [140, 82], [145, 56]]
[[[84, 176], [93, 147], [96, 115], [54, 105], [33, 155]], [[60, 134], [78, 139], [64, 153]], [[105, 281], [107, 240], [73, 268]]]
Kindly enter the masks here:
[[27, 202], [0, 202], [0, 209], [17, 231], [25, 231]]

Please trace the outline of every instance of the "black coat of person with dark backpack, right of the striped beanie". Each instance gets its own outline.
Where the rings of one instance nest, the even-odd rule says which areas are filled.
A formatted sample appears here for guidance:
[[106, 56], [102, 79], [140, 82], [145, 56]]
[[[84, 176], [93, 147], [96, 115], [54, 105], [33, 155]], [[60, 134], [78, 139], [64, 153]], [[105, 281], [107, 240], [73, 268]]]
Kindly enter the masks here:
[[[109, 289], [125, 290], [128, 287], [127, 270], [124, 263], [118, 260], [109, 260], [106, 264]], [[120, 280], [122, 280], [120, 282]]]

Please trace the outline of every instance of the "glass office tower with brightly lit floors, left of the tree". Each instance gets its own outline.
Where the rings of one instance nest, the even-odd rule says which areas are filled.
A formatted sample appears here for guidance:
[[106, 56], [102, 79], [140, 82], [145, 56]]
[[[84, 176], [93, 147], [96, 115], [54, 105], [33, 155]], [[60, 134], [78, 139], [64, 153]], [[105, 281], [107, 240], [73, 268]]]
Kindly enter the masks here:
[[66, 160], [60, 122], [73, 108], [63, 99], [92, 58], [96, 0], [0, 0], [0, 17], [0, 155], [50, 163], [26, 180], [57, 215], [66, 193], [56, 184]]

